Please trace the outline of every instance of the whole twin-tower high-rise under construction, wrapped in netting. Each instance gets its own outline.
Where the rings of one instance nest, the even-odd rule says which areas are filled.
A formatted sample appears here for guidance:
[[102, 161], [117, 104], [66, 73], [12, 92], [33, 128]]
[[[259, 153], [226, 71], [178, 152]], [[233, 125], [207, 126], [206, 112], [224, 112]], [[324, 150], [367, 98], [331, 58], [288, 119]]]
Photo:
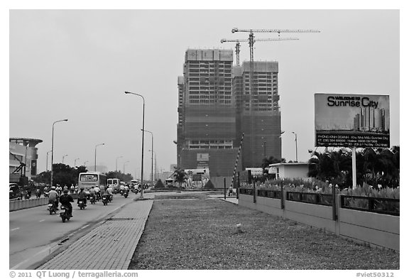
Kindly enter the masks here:
[[[277, 62], [255, 62], [250, 104], [249, 65], [233, 67], [233, 50], [185, 53], [178, 77], [178, 167], [208, 168], [211, 177], [281, 158]], [[250, 110], [250, 107], [252, 108]]]

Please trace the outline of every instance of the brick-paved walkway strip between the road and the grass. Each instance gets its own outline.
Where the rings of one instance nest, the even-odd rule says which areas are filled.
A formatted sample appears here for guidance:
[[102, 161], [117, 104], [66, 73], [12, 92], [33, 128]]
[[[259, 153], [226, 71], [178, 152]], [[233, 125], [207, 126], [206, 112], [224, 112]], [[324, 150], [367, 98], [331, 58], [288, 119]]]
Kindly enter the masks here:
[[127, 204], [37, 269], [124, 270], [141, 238], [153, 200]]

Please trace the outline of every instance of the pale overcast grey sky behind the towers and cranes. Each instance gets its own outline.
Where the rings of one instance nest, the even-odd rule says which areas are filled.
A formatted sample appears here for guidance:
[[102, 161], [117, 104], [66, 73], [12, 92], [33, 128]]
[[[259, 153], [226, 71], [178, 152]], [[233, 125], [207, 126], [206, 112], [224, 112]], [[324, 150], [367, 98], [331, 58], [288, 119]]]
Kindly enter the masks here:
[[[314, 94], [390, 96], [391, 146], [400, 145], [398, 10], [11, 10], [9, 137], [38, 138], [45, 170], [55, 124], [54, 162], [94, 163], [140, 173], [142, 94], [158, 169], [176, 163], [178, 76], [188, 48], [232, 49], [222, 38], [244, 29], [317, 29], [282, 33], [300, 40], [256, 42], [255, 61], [278, 61], [283, 158], [315, 149]], [[276, 33], [255, 33], [276, 38]], [[234, 55], [235, 56], [235, 55]], [[241, 44], [241, 62], [249, 45]], [[234, 61], [235, 63], [235, 61]], [[146, 175], [151, 134], [145, 134]], [[50, 160], [49, 160], [50, 163]], [[231, 168], [234, 168], [232, 163]], [[139, 174], [138, 174], [139, 176]]]

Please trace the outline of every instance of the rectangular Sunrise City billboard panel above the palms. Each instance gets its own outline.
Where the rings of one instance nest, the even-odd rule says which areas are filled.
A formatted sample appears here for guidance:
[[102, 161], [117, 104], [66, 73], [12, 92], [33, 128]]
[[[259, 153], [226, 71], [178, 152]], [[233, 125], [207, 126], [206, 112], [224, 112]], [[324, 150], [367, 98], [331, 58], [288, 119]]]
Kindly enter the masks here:
[[389, 96], [315, 94], [315, 146], [388, 148]]

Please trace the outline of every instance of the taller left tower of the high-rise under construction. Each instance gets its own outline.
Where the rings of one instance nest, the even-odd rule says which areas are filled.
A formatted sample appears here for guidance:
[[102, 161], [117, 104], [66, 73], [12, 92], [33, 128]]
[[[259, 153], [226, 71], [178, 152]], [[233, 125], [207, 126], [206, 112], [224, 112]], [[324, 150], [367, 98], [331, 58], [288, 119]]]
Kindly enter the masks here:
[[210, 176], [233, 175], [236, 105], [232, 50], [187, 50], [178, 78], [178, 167], [208, 168]]

